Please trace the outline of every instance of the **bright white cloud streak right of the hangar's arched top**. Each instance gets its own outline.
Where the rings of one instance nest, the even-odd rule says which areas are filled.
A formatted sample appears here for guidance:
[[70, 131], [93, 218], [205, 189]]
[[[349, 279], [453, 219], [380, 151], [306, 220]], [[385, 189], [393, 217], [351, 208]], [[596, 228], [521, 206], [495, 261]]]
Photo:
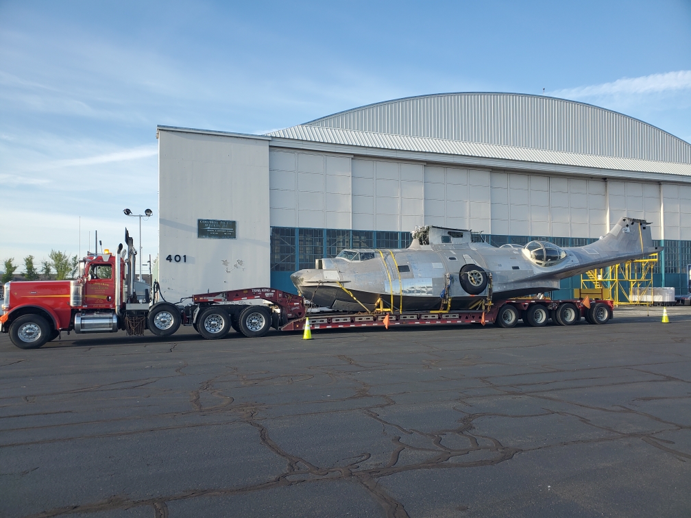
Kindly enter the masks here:
[[606, 95], [636, 95], [691, 90], [691, 70], [679, 70], [664, 74], [651, 74], [641, 77], [623, 77], [611, 83], [578, 86], [550, 92], [556, 97], [583, 99]]

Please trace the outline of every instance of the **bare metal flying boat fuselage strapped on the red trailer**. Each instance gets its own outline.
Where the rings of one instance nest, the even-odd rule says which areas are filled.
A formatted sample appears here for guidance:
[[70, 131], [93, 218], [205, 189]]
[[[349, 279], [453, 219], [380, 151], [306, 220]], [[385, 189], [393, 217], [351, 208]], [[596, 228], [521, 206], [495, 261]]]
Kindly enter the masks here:
[[487, 294], [487, 289], [476, 295], [463, 289], [459, 273], [464, 265], [491, 272], [494, 298], [513, 298], [559, 289], [563, 278], [660, 251], [650, 226], [632, 218], [621, 218], [597, 242], [559, 249], [562, 256], [551, 265], [531, 259], [523, 248], [497, 248], [471, 242], [470, 236], [470, 231], [430, 227], [429, 244], [414, 240], [408, 249], [360, 250], [365, 260], [321, 259], [319, 268], [296, 271], [291, 279], [312, 303], [336, 310], [371, 310], [380, 300], [404, 311], [439, 309], [446, 294], [452, 308], [462, 308]]

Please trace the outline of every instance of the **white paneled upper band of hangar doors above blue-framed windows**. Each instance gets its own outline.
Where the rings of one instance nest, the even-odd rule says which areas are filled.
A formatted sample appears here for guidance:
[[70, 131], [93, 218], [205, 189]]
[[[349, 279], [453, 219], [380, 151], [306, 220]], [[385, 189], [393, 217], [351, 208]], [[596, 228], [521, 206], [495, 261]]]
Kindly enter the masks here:
[[269, 187], [272, 227], [410, 231], [437, 224], [485, 234], [599, 238], [626, 214], [652, 222], [654, 239], [691, 239], [691, 186], [685, 185], [272, 146]]

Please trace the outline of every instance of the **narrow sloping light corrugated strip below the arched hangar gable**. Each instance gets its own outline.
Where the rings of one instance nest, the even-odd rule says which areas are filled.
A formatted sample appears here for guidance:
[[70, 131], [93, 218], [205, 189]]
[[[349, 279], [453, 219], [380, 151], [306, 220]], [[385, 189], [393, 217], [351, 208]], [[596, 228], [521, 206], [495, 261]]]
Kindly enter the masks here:
[[393, 149], [399, 151], [422, 151], [471, 157], [500, 158], [542, 164], [594, 167], [614, 171], [640, 171], [643, 173], [666, 173], [691, 176], [691, 164], [637, 160], [632, 158], [606, 157], [566, 153], [539, 148], [498, 146], [479, 142], [462, 142], [428, 137], [410, 137], [390, 133], [371, 133], [366, 131], [323, 128], [320, 126], [293, 126], [270, 133], [273, 137], [283, 137], [325, 144], [343, 144], [367, 148]]

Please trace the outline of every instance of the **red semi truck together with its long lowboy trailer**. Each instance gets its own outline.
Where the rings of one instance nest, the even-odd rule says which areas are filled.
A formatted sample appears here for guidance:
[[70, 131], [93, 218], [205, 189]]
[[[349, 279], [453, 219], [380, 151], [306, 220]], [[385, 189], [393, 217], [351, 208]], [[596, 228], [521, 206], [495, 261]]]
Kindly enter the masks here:
[[[459, 325], [495, 323], [513, 327], [522, 320], [533, 327], [551, 319], [571, 325], [585, 318], [604, 324], [612, 318], [611, 300], [550, 300], [478, 298], [475, 309], [451, 311], [375, 311], [347, 314], [308, 314], [301, 296], [273, 288], [249, 288], [191, 296], [192, 303], [163, 300], [158, 286], [134, 278], [136, 252], [132, 238], [116, 253], [90, 253], [79, 262], [76, 280], [7, 282], [0, 316], [3, 333], [21, 349], [35, 349], [55, 340], [62, 331], [78, 334], [113, 333], [141, 335], [149, 329], [156, 336], [170, 336], [180, 325], [192, 325], [204, 338], [224, 338], [230, 329], [248, 336], [264, 336], [271, 327], [282, 331], [303, 329], [310, 317], [312, 329], [341, 329], [395, 325]], [[388, 315], [386, 323], [384, 319]]]

